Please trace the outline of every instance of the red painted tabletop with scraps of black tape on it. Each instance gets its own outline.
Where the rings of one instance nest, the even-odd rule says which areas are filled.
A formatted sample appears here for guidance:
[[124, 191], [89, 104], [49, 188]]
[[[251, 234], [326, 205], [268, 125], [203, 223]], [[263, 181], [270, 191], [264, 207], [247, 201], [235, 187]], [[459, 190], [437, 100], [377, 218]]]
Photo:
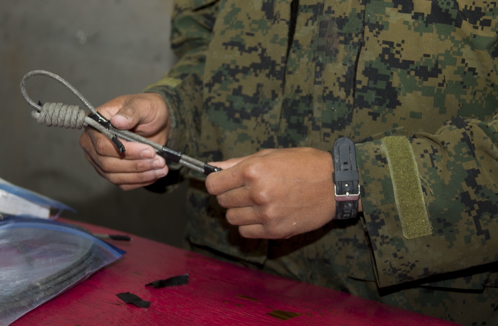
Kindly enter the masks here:
[[[71, 223], [95, 233], [118, 233]], [[131, 236], [130, 242], [110, 240], [127, 252], [121, 260], [11, 325], [455, 325]], [[145, 287], [185, 273], [187, 285]], [[122, 292], [150, 301], [150, 307], [124, 304], [116, 296]], [[278, 312], [296, 317], [281, 320]]]

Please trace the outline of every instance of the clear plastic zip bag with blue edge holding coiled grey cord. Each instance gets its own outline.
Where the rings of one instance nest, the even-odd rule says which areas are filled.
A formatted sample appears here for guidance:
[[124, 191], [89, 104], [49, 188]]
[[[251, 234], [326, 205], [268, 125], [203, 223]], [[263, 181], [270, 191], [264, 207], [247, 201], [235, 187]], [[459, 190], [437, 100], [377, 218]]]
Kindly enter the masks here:
[[124, 253], [76, 226], [5, 217], [0, 221], [0, 326], [86, 280]]

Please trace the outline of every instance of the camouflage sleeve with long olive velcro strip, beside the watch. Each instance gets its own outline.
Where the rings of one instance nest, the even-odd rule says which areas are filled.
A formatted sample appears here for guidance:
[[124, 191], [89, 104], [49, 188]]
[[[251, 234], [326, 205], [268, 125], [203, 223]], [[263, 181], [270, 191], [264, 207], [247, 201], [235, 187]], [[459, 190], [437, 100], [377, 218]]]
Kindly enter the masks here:
[[356, 146], [380, 287], [498, 260], [497, 130], [498, 115], [455, 118]]

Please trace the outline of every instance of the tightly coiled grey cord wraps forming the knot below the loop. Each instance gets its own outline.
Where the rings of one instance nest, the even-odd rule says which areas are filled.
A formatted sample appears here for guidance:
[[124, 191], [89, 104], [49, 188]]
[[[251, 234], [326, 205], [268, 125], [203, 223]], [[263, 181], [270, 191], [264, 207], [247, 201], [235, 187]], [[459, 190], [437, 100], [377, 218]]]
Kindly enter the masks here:
[[40, 125], [81, 129], [85, 123], [85, 111], [78, 105], [62, 103], [45, 103], [40, 112], [33, 111], [31, 116]]

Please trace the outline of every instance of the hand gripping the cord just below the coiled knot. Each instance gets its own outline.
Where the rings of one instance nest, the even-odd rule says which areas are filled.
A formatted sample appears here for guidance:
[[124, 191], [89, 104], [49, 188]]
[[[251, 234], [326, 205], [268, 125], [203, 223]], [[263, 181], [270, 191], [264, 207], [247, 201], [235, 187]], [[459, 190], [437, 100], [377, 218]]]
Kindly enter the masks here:
[[[158, 144], [166, 144], [169, 116], [162, 96], [155, 93], [124, 95], [97, 110], [117, 129], [130, 130]], [[164, 159], [148, 145], [125, 142], [124, 153], [104, 135], [86, 128], [80, 146], [100, 175], [128, 190], [153, 183], [168, 173]]]

